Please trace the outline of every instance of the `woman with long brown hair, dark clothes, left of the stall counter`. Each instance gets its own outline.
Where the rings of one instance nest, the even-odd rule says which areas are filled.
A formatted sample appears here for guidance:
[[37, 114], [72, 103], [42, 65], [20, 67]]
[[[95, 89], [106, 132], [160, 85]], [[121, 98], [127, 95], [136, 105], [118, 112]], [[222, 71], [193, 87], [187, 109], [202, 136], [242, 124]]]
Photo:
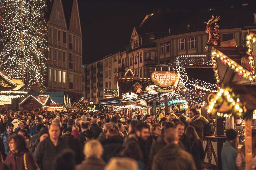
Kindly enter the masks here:
[[193, 126], [188, 126], [185, 130], [185, 135], [188, 137], [189, 150], [194, 158], [196, 169], [202, 169], [202, 159], [204, 159], [205, 151], [202, 145], [201, 139], [196, 133], [196, 129]]

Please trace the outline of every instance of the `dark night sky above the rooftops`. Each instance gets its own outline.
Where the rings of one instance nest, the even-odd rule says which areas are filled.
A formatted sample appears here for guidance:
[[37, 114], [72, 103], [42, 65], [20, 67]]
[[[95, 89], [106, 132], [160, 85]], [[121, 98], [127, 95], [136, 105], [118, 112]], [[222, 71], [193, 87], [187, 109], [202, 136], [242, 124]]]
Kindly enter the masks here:
[[[83, 64], [119, 51], [129, 43], [133, 27], [138, 27], [153, 8], [198, 11], [217, 6], [242, 6], [253, 1], [85, 1], [78, 0], [83, 36]], [[255, 2], [255, 1], [254, 1]], [[214, 4], [214, 5], [212, 5]]]

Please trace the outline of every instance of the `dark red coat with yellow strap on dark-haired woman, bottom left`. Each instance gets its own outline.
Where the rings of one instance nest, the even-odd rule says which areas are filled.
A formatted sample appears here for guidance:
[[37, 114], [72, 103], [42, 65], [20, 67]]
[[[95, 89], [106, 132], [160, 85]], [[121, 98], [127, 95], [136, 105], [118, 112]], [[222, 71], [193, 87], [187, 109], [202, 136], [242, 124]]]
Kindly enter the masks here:
[[[37, 168], [35, 161], [33, 159], [33, 156], [29, 153], [28, 150], [22, 151], [18, 154], [14, 154], [13, 152], [10, 152], [6, 157], [4, 164], [8, 167], [9, 170], [25, 170], [24, 160], [23, 160], [24, 153], [26, 153], [28, 170], [35, 170]], [[17, 156], [16, 159], [15, 159], [15, 156]]]

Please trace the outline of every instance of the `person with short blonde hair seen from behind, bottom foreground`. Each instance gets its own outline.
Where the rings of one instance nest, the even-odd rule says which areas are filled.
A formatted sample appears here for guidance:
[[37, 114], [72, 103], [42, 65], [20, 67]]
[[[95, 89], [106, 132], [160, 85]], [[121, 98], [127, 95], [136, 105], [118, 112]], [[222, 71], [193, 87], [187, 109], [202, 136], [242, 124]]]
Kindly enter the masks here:
[[85, 155], [85, 160], [81, 164], [76, 166], [77, 170], [87, 169], [87, 170], [103, 170], [105, 162], [101, 158], [103, 155], [103, 147], [100, 141], [91, 139], [88, 140], [83, 148], [83, 153]]

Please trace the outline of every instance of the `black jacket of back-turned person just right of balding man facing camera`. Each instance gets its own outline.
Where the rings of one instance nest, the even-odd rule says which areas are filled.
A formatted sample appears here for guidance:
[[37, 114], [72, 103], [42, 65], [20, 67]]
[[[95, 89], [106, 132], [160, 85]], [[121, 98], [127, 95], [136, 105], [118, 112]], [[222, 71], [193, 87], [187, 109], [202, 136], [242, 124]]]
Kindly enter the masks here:
[[82, 143], [73, 135], [62, 135], [60, 138], [64, 139], [68, 143], [68, 147], [76, 154], [76, 163], [81, 163], [84, 157]]

